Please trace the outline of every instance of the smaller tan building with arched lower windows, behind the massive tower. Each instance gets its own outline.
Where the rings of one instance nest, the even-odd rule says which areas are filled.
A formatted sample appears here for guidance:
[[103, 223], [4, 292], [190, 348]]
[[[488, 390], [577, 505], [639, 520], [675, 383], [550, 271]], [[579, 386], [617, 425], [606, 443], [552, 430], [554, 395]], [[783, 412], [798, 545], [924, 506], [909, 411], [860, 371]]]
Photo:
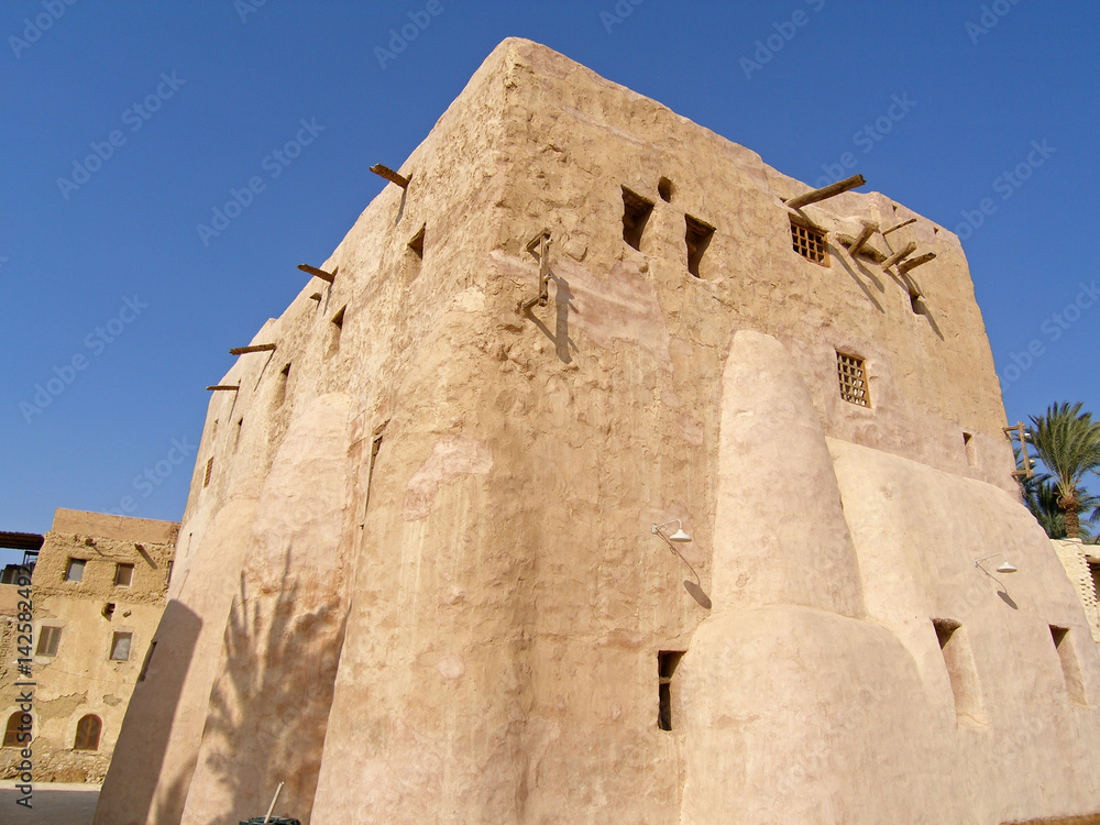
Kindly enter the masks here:
[[[35, 782], [101, 782], [153, 653], [179, 525], [57, 509], [31, 579]], [[0, 778], [15, 776], [20, 596], [0, 585]], [[22, 640], [25, 642], [25, 639]]]

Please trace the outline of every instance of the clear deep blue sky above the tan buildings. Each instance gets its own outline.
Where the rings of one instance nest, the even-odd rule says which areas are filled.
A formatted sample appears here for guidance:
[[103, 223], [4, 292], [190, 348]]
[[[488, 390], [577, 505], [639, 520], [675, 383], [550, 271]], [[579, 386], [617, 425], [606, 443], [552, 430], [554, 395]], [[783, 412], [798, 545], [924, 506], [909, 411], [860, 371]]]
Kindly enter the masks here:
[[[403, 25], [415, 40], [380, 61]], [[381, 190], [367, 167], [399, 166], [509, 35], [807, 183], [851, 153], [868, 189], [966, 227], [1009, 419], [1063, 399], [1100, 413], [1100, 296], [1080, 286], [1100, 278], [1091, 0], [8, 0], [0, 530], [127, 496], [178, 519], [194, 452], [173, 465], [173, 446], [197, 443], [229, 348]], [[310, 143], [272, 156], [302, 120]], [[253, 176], [263, 190], [200, 238]]]

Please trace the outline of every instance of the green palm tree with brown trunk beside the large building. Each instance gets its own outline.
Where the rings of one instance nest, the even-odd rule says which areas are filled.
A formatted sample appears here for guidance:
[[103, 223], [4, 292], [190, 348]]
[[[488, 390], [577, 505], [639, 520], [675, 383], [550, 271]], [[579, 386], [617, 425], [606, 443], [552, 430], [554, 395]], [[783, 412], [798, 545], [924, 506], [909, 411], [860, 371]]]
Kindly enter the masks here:
[[[1096, 505], [1082, 482], [1088, 473], [1100, 471], [1100, 424], [1092, 421], [1091, 413], [1081, 413], [1080, 402], [1055, 404], [1047, 407], [1045, 416], [1032, 416], [1031, 420], [1027, 433], [1049, 471], [1066, 537], [1080, 538], [1078, 513]], [[1090, 520], [1094, 519], [1096, 514]]]

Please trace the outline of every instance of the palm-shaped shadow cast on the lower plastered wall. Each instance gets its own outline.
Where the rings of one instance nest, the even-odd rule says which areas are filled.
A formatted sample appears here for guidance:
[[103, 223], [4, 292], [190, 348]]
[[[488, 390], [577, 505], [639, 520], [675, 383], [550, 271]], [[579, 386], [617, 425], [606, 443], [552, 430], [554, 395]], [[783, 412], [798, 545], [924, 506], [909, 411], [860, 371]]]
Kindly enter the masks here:
[[207, 765], [229, 790], [232, 825], [262, 816], [280, 781], [275, 813], [307, 823], [317, 789], [346, 609], [330, 582], [290, 578], [290, 552], [277, 591], [250, 595], [241, 574], [210, 694]]

